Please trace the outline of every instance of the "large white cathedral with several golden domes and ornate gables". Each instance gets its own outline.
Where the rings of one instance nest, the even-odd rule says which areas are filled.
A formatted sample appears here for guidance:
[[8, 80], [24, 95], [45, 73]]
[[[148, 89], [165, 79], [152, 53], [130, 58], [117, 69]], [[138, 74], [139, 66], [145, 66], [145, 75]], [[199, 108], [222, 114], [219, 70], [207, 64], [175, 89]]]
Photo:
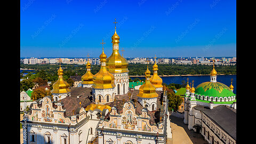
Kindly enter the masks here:
[[[115, 28], [116, 29], [116, 28]], [[53, 84], [52, 95], [33, 101], [21, 121], [24, 143], [167, 143], [172, 138], [168, 99], [157, 65], [139, 90], [129, 89], [128, 62], [119, 54], [116, 30], [111, 37], [113, 53], [100, 54], [101, 68], [91, 73], [89, 60], [82, 87], [71, 87], [62, 78]]]

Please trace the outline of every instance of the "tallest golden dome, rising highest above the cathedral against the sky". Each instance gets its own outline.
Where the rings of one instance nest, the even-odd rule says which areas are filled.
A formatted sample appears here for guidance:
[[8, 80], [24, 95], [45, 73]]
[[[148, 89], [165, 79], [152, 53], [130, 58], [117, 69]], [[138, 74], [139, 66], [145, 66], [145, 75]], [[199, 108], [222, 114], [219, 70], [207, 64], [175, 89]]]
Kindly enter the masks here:
[[128, 61], [119, 54], [119, 39], [120, 37], [115, 34], [111, 37], [113, 43], [113, 52], [110, 57], [107, 58], [107, 69], [109, 73], [126, 73], [128, 70]]

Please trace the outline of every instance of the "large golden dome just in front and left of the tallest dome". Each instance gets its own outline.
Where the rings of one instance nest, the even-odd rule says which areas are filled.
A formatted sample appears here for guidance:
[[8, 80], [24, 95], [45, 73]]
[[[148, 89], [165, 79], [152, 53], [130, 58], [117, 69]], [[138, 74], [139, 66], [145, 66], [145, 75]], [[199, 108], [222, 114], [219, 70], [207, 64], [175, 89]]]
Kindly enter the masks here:
[[104, 53], [102, 49], [102, 53], [100, 55], [101, 67], [100, 71], [93, 76], [93, 85], [94, 89], [110, 89], [115, 87], [114, 76], [110, 74], [106, 68], [106, 58], [107, 55]]

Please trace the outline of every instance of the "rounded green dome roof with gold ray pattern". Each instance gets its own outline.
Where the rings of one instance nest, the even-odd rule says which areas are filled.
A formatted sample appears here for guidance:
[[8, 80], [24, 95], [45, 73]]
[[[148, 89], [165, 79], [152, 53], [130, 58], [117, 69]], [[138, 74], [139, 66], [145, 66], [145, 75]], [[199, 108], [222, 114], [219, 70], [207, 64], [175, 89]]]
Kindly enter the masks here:
[[204, 82], [196, 87], [195, 94], [209, 97], [231, 97], [235, 94], [225, 84], [219, 82]]

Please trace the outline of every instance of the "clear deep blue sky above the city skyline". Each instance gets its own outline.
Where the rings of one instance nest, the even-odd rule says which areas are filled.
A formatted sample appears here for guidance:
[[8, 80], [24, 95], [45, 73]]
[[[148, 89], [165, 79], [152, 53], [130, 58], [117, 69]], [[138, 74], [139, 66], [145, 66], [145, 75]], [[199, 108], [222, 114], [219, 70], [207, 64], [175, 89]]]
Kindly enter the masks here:
[[21, 0], [20, 57], [109, 57], [115, 18], [124, 57], [236, 57], [233, 0]]

